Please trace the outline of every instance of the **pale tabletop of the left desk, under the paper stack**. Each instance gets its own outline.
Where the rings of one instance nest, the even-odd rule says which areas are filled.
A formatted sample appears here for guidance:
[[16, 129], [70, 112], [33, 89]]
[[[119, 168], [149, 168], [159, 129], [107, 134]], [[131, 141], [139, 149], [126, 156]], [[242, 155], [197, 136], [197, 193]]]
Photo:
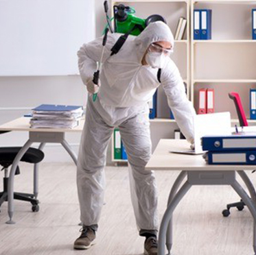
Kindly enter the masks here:
[[21, 117], [13, 121], [0, 125], [0, 131], [29, 131], [29, 132], [82, 132], [84, 119], [79, 121], [79, 125], [73, 128], [31, 128], [30, 117]]

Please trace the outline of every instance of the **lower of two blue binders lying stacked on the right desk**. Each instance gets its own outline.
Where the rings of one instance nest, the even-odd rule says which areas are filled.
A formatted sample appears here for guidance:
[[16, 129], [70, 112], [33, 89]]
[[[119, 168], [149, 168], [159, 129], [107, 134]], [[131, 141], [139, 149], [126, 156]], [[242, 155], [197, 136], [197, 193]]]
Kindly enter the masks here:
[[256, 151], [208, 151], [209, 165], [256, 165]]

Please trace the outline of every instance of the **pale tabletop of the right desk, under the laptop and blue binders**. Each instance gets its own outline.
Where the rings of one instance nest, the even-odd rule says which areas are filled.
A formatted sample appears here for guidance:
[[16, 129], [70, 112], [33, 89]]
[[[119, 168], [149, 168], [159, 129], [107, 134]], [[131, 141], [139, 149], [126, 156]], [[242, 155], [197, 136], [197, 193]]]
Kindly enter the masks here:
[[172, 149], [189, 149], [189, 143], [186, 140], [161, 139], [146, 165], [146, 169], [185, 171], [256, 169], [256, 165], [207, 165], [202, 155], [174, 154], [169, 152]]

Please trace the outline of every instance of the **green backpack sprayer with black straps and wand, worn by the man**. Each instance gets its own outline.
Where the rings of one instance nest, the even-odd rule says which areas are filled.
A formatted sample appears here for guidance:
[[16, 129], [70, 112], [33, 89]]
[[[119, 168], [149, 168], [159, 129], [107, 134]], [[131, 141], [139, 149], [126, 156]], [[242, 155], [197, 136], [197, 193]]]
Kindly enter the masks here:
[[[114, 10], [114, 17], [110, 19], [108, 16], [108, 1], [105, 0], [104, 12], [106, 14], [107, 25], [106, 25], [106, 28], [104, 29], [104, 38], [102, 42], [102, 56], [104, 53], [107, 34], [109, 30], [111, 33], [115, 32], [115, 33], [124, 34], [118, 38], [117, 42], [115, 42], [115, 45], [112, 47], [111, 49], [112, 53], [110, 56], [113, 56], [121, 49], [121, 47], [124, 45], [124, 42], [126, 42], [126, 39], [128, 38], [129, 35], [138, 36], [139, 34], [141, 34], [143, 29], [145, 29], [145, 27], [149, 23], [152, 23], [155, 21], [163, 21], [164, 23], [166, 23], [165, 18], [163, 18], [163, 16], [159, 14], [150, 15], [148, 16], [147, 19], [138, 18], [137, 16], [134, 15], [135, 14], [134, 8], [125, 6], [123, 4], [114, 5], [113, 10]], [[114, 19], [114, 30], [111, 25], [111, 21], [113, 21], [113, 19]], [[95, 71], [93, 75], [94, 84], [98, 84], [99, 82], [101, 64], [102, 64], [102, 57], [100, 59], [100, 62], [97, 65], [98, 66], [97, 71]], [[159, 80], [159, 82], [161, 82], [160, 77], [161, 77], [161, 69], [159, 69], [157, 73], [157, 79]], [[96, 98], [97, 98], [97, 93], [93, 94], [93, 101], [95, 101]]]

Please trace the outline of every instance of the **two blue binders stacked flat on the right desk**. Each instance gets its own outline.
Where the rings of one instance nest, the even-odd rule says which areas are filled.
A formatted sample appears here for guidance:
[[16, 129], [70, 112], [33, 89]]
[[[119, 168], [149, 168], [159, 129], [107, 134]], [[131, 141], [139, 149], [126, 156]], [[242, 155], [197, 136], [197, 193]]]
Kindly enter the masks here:
[[202, 149], [209, 165], [256, 165], [256, 132], [203, 136]]

